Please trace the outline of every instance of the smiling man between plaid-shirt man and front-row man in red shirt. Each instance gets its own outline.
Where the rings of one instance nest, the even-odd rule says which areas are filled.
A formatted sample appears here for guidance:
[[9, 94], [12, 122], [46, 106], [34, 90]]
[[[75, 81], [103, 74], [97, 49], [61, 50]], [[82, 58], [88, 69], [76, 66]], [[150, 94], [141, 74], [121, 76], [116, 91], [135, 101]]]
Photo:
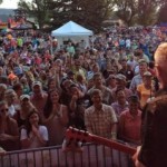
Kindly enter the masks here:
[[117, 100], [115, 102], [111, 104], [111, 107], [114, 108], [117, 118], [119, 120], [120, 114], [129, 108], [129, 104], [126, 99], [126, 95], [124, 89], [117, 89], [116, 90], [116, 98]]

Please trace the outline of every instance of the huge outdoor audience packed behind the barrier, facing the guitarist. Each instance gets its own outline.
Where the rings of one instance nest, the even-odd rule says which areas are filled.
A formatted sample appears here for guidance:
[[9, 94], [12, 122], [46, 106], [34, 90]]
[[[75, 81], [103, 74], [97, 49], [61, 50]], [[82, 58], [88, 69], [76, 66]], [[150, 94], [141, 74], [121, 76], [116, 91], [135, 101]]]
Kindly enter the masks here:
[[69, 126], [141, 144], [141, 114], [159, 89], [154, 53], [167, 29], [112, 28], [58, 48], [30, 30], [0, 36], [0, 146], [61, 145]]

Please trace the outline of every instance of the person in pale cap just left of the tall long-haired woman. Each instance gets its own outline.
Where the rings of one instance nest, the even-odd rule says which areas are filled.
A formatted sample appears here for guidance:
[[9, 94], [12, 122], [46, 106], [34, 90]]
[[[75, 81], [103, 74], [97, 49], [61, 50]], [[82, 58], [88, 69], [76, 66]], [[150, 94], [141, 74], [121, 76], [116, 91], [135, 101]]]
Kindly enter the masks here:
[[40, 114], [40, 117], [43, 116], [43, 108], [47, 101], [47, 92], [42, 90], [42, 85], [40, 81], [35, 81], [32, 84], [32, 95], [30, 96], [30, 101], [37, 108]]

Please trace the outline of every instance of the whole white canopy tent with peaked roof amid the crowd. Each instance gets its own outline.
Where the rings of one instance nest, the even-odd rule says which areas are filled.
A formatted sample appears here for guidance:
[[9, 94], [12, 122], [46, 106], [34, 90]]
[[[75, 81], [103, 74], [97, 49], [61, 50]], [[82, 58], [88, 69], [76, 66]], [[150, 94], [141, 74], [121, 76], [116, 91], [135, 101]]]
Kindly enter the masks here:
[[91, 30], [88, 30], [73, 21], [69, 21], [62, 27], [51, 31], [51, 36], [56, 37], [58, 40], [58, 49], [69, 39], [73, 42], [85, 40], [86, 47], [89, 47], [89, 36], [92, 35]]

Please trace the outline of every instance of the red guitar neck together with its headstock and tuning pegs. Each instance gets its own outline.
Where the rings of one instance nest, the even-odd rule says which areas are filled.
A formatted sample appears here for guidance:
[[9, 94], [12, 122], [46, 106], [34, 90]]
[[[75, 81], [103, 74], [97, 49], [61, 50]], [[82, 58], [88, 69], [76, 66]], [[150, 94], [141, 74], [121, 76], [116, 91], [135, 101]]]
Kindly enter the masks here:
[[136, 148], [127, 146], [125, 144], [115, 141], [115, 140], [110, 140], [100, 136], [96, 136], [92, 134], [89, 134], [88, 131], [84, 131], [84, 130], [79, 130], [76, 128], [68, 128], [66, 130], [66, 138], [69, 139], [70, 141], [81, 141], [81, 143], [95, 143], [95, 144], [101, 144], [105, 146], [108, 146], [112, 149], [126, 153], [128, 155], [135, 155], [136, 153]]

